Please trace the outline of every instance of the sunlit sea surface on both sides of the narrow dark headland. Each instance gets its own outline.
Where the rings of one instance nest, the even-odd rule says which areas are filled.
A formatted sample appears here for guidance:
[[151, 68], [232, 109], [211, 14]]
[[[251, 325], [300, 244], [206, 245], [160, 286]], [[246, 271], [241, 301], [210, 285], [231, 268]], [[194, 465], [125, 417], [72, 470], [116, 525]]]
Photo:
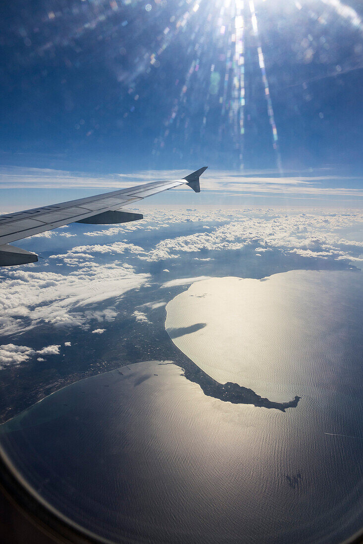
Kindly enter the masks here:
[[116, 542], [340, 542], [363, 526], [362, 314], [359, 271], [196, 282], [167, 305], [172, 341], [222, 384], [297, 407], [223, 402], [146, 361], [50, 395], [0, 443]]

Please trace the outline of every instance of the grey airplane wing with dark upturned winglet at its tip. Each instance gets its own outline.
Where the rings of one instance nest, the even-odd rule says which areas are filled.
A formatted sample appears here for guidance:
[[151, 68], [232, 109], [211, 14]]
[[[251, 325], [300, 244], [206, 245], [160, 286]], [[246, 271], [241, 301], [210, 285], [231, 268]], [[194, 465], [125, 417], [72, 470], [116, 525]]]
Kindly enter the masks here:
[[203, 166], [182, 180], [145, 183], [129, 189], [89, 196], [85, 199], [70, 200], [43, 208], [0, 215], [0, 266], [7, 267], [38, 261], [38, 256], [35, 253], [9, 245], [9, 242], [14, 242], [14, 240], [21, 240], [33, 236], [33, 234], [50, 231], [53, 228], [74, 222], [109, 225], [143, 219], [142, 214], [122, 210], [122, 208], [132, 202], [143, 200], [147, 196], [184, 184], [199, 193], [201, 190], [199, 176], [207, 168], [207, 166]]

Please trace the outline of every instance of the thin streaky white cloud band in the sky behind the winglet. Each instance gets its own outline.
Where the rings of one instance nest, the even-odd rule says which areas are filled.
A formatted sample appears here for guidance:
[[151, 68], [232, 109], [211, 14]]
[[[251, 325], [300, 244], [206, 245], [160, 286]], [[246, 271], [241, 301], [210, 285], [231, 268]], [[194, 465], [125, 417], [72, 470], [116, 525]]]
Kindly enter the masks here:
[[[0, 170], [1, 188], [87, 188], [100, 191], [128, 188], [135, 184], [161, 180], [180, 180], [186, 170], [144, 170], [129, 174], [92, 176], [84, 172], [3, 166]], [[356, 178], [349, 176], [286, 175], [270, 172], [207, 170], [203, 175], [203, 190], [232, 191], [233, 193], [265, 193], [317, 196], [363, 196], [363, 190], [354, 187]], [[337, 182], [341, 183], [337, 187]], [[330, 186], [328, 184], [330, 183]], [[349, 187], [352, 184], [353, 187]], [[178, 189], [176, 189], [178, 190]], [[183, 189], [179, 189], [183, 190]]]

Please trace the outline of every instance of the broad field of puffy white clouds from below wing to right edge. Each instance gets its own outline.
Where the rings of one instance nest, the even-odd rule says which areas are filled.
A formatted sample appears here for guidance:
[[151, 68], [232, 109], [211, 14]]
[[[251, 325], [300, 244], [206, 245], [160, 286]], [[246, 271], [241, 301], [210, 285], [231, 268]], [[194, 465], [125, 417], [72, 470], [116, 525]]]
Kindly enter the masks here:
[[[132, 225], [132, 230], [142, 228], [148, 231], [149, 228], [158, 230], [167, 224], [181, 224], [190, 221], [190, 211], [174, 207], [173, 209], [150, 208], [150, 218], [147, 224]], [[196, 253], [204, 251], [239, 250], [246, 245], [255, 244], [255, 251], [260, 254], [271, 251], [273, 248], [280, 248], [287, 251], [312, 251], [314, 240], [319, 240], [320, 251], [331, 252], [331, 256], [352, 256], [352, 251], [346, 252], [348, 246], [362, 247], [361, 242], [345, 240], [340, 230], [344, 230], [355, 223], [357, 230], [362, 225], [362, 214], [356, 210], [329, 211], [326, 209], [305, 208], [304, 211], [291, 209], [286, 213], [286, 208], [271, 207], [246, 207], [246, 208], [219, 208], [208, 207], [193, 211], [193, 221], [202, 222], [200, 232], [164, 238], [156, 243], [151, 249], [144, 249], [141, 246], [129, 244], [127, 239], [122, 242], [110, 244], [80, 245], [72, 248], [66, 254], [53, 256], [63, 259], [65, 263], [72, 266], [80, 266], [80, 263], [87, 261], [99, 252], [102, 254], [117, 255], [118, 253], [128, 256], [135, 256], [142, 261], [159, 262], [167, 259], [179, 259], [185, 253]], [[204, 229], [205, 222], [210, 222], [210, 228]], [[219, 225], [221, 224], [221, 225]], [[117, 227], [118, 236], [126, 234], [126, 227]], [[129, 227], [127, 227], [129, 228]], [[109, 232], [111, 231], [111, 232]], [[99, 236], [111, 236], [115, 234], [115, 227], [109, 230], [98, 231]], [[342, 246], [345, 248], [342, 250]], [[301, 254], [302, 255], [302, 254]], [[306, 253], [305, 256], [308, 254]], [[318, 255], [316, 255], [318, 256]], [[324, 257], [322, 253], [320, 256]], [[211, 257], [194, 257], [201, 261], [211, 260]], [[169, 270], [165, 268], [164, 271]]]

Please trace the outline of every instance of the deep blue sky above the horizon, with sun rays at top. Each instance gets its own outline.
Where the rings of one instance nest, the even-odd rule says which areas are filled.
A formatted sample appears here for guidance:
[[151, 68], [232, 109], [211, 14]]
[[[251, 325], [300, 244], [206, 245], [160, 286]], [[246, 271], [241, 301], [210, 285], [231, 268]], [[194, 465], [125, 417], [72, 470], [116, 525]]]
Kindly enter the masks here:
[[6, 206], [11, 187], [43, 190], [44, 176], [96, 191], [85, 177], [108, 188], [204, 164], [310, 176], [349, 200], [362, 188], [360, 2], [15, 0], [4, 12]]

